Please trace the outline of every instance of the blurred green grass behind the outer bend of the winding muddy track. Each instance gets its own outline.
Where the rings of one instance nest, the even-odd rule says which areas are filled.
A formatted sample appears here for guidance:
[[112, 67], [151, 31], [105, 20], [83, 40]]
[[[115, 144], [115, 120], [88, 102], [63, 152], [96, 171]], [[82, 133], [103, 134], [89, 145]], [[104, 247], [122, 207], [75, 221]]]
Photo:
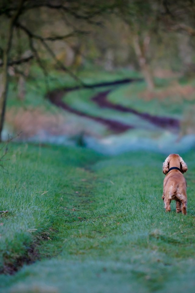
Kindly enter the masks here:
[[[30, 78], [27, 79], [25, 84], [26, 96], [24, 101], [17, 99], [17, 80], [11, 79], [9, 84], [9, 96], [7, 101], [8, 107], [45, 107], [46, 110], [52, 110], [52, 105], [44, 99], [47, 91], [53, 89], [61, 89], [64, 87], [74, 87], [78, 82], [65, 74], [62, 71], [49, 70], [48, 88], [46, 87], [45, 78], [42, 71], [37, 66], [32, 66], [30, 69]], [[120, 69], [113, 72], [102, 71], [94, 69], [88, 71], [86, 69], [75, 72], [75, 75], [86, 84], [94, 84], [100, 82], [109, 82], [123, 78], [140, 78], [138, 72]], [[34, 77], [34, 78], [33, 78]]]

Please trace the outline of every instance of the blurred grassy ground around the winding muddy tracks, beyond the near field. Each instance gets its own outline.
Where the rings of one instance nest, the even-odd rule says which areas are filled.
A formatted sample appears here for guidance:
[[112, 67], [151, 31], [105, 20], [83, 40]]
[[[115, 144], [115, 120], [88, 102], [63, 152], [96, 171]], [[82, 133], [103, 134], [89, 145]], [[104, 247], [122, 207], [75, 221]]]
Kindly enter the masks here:
[[[17, 98], [16, 80], [12, 80], [10, 85], [4, 139], [8, 133], [16, 135], [21, 132], [18, 137], [20, 141], [79, 145], [80, 137], [83, 137], [87, 147], [104, 154], [143, 148], [159, 152], [184, 152], [195, 144], [195, 84], [192, 78], [155, 78], [156, 87], [153, 92], [148, 92], [144, 81], [138, 81], [125, 85], [80, 89], [64, 95], [63, 101], [81, 114], [129, 125], [130, 129], [119, 136], [115, 130], [110, 130], [108, 124], [60, 109], [45, 99], [47, 90], [78, 85], [73, 78], [60, 71], [52, 72], [49, 89], [46, 89], [41, 72], [36, 67], [31, 70], [24, 100]], [[32, 76], [36, 78], [33, 79]], [[98, 69], [93, 72], [85, 69], [77, 72], [77, 76], [86, 84], [140, 78], [138, 73], [129, 70], [103, 72]], [[111, 103], [133, 108], [140, 113], [176, 118], [180, 127], [173, 133], [169, 126], [161, 128], [137, 114], [101, 108], [91, 100], [94, 95], [108, 89], [112, 89], [107, 97]]]

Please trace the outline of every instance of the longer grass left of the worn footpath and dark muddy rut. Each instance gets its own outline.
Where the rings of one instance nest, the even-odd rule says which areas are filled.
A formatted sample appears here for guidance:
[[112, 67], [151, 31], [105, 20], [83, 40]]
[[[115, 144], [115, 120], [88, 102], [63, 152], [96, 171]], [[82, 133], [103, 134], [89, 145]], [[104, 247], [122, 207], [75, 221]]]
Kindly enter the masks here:
[[71, 174], [76, 167], [86, 163], [85, 153], [78, 154], [78, 157], [76, 150], [70, 154], [66, 150], [63, 156], [63, 148], [55, 151], [48, 147], [44, 149], [43, 156], [41, 147], [26, 144], [13, 145], [11, 149], [9, 161], [5, 164], [9, 173], [2, 170], [0, 185], [0, 210], [9, 211], [1, 217], [1, 269], [3, 264], [15, 264], [37, 235], [44, 234], [52, 226], [59, 205], [56, 194], [64, 184], [63, 176], [59, 176], [59, 173], [64, 173], [63, 166], [66, 165], [67, 172]]

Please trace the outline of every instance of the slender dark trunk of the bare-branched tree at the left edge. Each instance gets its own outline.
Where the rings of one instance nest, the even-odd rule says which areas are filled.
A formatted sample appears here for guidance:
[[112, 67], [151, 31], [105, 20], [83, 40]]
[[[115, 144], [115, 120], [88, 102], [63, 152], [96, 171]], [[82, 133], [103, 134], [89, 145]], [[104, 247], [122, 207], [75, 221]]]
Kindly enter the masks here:
[[0, 96], [0, 141], [2, 139], [2, 130], [5, 119], [5, 106], [7, 100], [8, 93], [8, 61], [9, 61], [9, 53], [12, 46], [12, 36], [14, 30], [14, 24], [16, 23], [23, 6], [24, 0], [21, 0], [18, 6], [16, 13], [11, 17], [9, 28], [8, 28], [8, 36], [7, 43], [5, 45], [5, 49], [3, 51], [3, 68], [2, 68], [2, 85], [1, 85], [1, 96]]

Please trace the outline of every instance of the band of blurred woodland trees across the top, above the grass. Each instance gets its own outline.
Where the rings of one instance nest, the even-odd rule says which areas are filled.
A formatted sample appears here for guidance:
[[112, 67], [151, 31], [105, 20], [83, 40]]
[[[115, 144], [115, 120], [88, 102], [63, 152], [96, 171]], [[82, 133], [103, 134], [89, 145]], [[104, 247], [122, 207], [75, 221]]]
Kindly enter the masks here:
[[193, 0], [1, 0], [0, 133], [9, 77], [23, 100], [35, 64], [46, 91], [54, 69], [82, 84], [81, 68], [129, 68], [142, 73], [151, 92], [163, 72], [194, 74], [194, 14]]

